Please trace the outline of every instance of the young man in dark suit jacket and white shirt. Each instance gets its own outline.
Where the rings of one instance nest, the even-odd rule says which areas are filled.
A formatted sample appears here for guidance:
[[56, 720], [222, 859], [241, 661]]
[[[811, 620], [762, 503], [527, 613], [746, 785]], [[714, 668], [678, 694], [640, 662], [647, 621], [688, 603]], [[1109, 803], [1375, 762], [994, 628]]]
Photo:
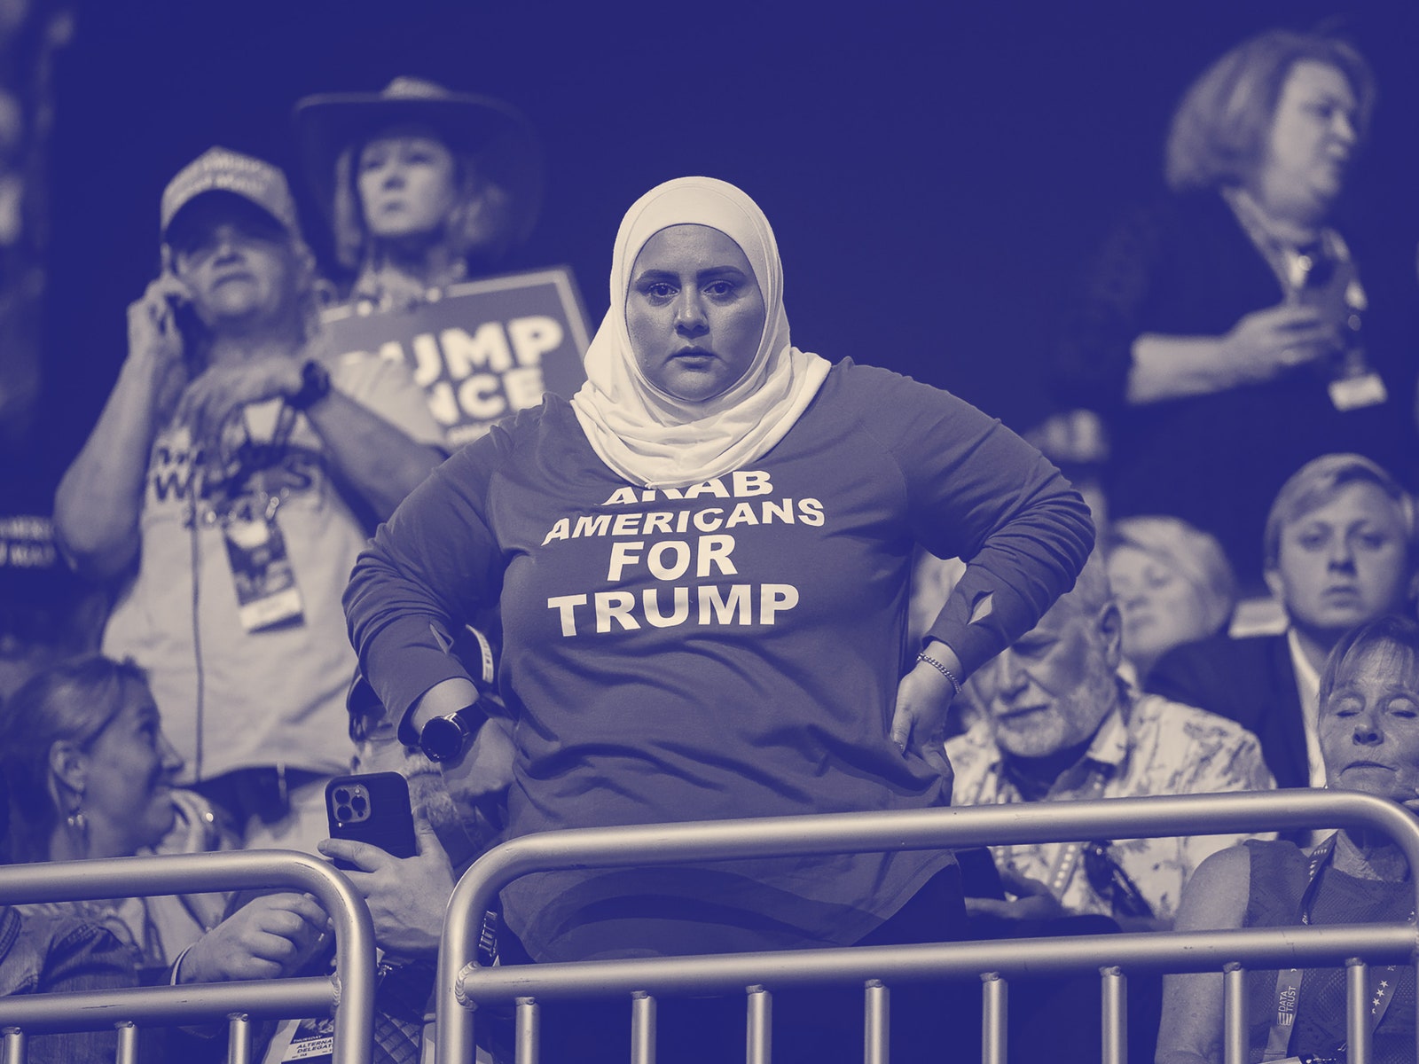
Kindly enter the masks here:
[[1358, 454], [1303, 465], [1266, 519], [1266, 583], [1284, 634], [1226, 634], [1164, 655], [1147, 687], [1236, 721], [1261, 741], [1279, 786], [1325, 783], [1317, 732], [1320, 670], [1351, 627], [1408, 611], [1415, 596], [1415, 506]]

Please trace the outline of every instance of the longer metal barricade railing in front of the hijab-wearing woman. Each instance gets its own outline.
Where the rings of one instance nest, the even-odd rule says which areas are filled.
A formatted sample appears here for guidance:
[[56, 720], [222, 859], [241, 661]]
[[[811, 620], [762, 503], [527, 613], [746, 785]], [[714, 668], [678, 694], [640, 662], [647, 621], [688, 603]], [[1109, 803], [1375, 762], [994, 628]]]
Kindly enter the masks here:
[[[448, 902], [438, 962], [436, 1060], [437, 1064], [473, 1060], [473, 1007], [480, 1002], [517, 1002], [518, 1060], [522, 1064], [536, 1060], [535, 1051], [526, 1050], [536, 1043], [539, 997], [626, 993], [631, 996], [633, 1061], [653, 1061], [654, 994], [742, 992], [746, 993], [746, 1057], [751, 1064], [762, 1064], [769, 1060], [775, 987], [858, 982], [866, 987], [864, 1058], [871, 1064], [887, 1060], [887, 999], [894, 982], [981, 976], [985, 980], [982, 1058], [986, 1064], [1003, 1064], [1009, 979], [1097, 970], [1103, 980], [1105, 1064], [1121, 1064], [1125, 1058], [1120, 1037], [1127, 1000], [1125, 972], [1225, 972], [1225, 1060], [1244, 1064], [1247, 968], [1348, 965], [1348, 989], [1354, 1000], [1368, 986], [1366, 962], [1416, 963], [1419, 936], [1415, 926], [1358, 924], [1169, 931], [488, 968], [477, 963], [481, 916], [504, 885], [551, 868], [1088, 838], [1171, 838], [1317, 824], [1378, 830], [1401, 846], [1412, 870], [1419, 870], [1419, 820], [1392, 802], [1340, 790], [1032, 802], [524, 836], [484, 854], [458, 881]], [[1416, 892], [1419, 907], [1419, 875], [1410, 875], [1409, 890]], [[1349, 1064], [1368, 1064], [1369, 1060], [1371, 1034], [1362, 1019], [1351, 1013]]]

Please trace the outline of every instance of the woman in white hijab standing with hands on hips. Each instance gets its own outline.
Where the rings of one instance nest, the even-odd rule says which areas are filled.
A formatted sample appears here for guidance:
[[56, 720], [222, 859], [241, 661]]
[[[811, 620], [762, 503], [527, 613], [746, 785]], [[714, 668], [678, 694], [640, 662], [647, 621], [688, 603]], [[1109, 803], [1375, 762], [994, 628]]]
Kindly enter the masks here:
[[[586, 370], [455, 454], [356, 565], [352, 638], [406, 733], [477, 698], [430, 624], [498, 602], [509, 837], [948, 804], [946, 705], [1073, 583], [1080, 497], [948, 393], [795, 348], [773, 233], [724, 182], [626, 214]], [[914, 663], [915, 543], [969, 565]], [[939, 926], [891, 933], [954, 933], [954, 875], [948, 851], [725, 861], [502, 901], [534, 960], [850, 945], [928, 882]]]

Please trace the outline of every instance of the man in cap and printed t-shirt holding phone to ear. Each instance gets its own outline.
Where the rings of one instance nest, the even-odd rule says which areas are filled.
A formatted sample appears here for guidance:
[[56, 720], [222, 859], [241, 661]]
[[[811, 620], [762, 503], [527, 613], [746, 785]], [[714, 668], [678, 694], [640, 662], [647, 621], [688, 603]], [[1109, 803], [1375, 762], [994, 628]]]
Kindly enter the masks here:
[[165, 270], [55, 525], [79, 572], [123, 584], [104, 647], [148, 670], [182, 779], [248, 846], [314, 850], [349, 765], [341, 592], [441, 434], [403, 365], [321, 350], [280, 170], [213, 148], [160, 221]]

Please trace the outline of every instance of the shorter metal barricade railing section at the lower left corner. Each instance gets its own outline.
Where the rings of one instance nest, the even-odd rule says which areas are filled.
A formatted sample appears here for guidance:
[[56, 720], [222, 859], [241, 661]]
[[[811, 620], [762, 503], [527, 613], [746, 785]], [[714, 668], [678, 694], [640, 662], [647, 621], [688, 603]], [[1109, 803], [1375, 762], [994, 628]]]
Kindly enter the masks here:
[[326, 863], [295, 850], [123, 857], [0, 867], [0, 904], [135, 898], [245, 888], [305, 891], [335, 929], [331, 977], [241, 980], [0, 997], [4, 1064], [24, 1060], [28, 1034], [118, 1029], [118, 1061], [138, 1060], [142, 1024], [227, 1021], [228, 1060], [251, 1055], [251, 1020], [332, 1016], [335, 1064], [369, 1064], [375, 1014], [375, 928], [365, 899]]

